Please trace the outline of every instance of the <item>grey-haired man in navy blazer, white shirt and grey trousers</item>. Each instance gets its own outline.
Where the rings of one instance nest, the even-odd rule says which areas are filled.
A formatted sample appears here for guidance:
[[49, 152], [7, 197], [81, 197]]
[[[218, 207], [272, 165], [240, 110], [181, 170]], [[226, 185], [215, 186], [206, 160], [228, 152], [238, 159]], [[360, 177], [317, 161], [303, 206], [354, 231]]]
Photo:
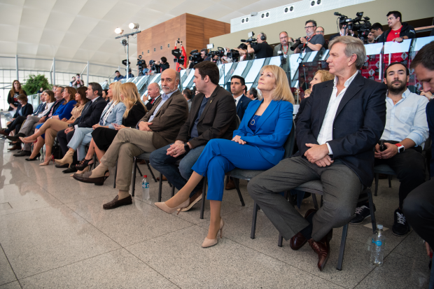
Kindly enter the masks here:
[[[386, 122], [386, 85], [363, 78], [363, 42], [351, 36], [330, 41], [327, 62], [335, 80], [314, 85], [296, 127], [300, 152], [248, 183], [248, 192], [293, 250], [307, 242], [328, 260], [333, 227], [354, 216], [363, 185], [372, 183], [374, 146]], [[346, 50], [347, 49], [347, 50]], [[320, 180], [324, 204], [304, 218], [279, 192]]]

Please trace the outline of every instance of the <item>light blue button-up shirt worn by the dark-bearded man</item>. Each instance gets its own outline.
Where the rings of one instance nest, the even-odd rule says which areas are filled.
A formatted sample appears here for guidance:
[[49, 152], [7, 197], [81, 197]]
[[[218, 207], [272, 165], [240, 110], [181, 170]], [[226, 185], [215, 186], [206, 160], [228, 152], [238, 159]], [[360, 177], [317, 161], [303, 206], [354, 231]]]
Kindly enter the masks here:
[[426, 97], [412, 93], [408, 88], [396, 104], [393, 104], [391, 98], [386, 97], [386, 126], [381, 139], [385, 141], [411, 139], [416, 146], [421, 146], [423, 149], [428, 139], [427, 104]]

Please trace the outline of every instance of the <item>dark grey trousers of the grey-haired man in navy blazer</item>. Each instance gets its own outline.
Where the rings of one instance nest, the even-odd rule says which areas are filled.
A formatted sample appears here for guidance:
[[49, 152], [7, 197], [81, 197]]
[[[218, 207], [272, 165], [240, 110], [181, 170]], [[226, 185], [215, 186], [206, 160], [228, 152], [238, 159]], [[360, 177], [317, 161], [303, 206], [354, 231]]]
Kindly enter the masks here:
[[329, 167], [318, 167], [305, 158], [291, 157], [253, 178], [248, 193], [286, 240], [309, 222], [279, 194], [308, 181], [321, 180], [323, 206], [314, 215], [312, 238], [320, 241], [332, 228], [342, 227], [354, 216], [363, 185], [349, 167], [335, 160]]

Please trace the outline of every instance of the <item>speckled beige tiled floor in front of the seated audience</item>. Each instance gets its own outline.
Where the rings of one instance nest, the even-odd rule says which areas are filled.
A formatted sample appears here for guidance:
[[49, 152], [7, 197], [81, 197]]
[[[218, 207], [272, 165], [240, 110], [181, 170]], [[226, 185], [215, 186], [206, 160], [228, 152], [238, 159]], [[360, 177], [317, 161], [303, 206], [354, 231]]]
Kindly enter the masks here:
[[[104, 211], [116, 195], [113, 177], [101, 186], [74, 181], [53, 165], [39, 167], [13, 157], [0, 140], [0, 289], [4, 288], [428, 288], [428, 257], [411, 232], [395, 237], [386, 230], [384, 267], [368, 264], [372, 231], [352, 225], [344, 265], [337, 271], [342, 229], [334, 230], [324, 272], [316, 268], [309, 246], [292, 251], [277, 246], [278, 232], [259, 212], [256, 238], [250, 238], [253, 201], [241, 190], [225, 192], [223, 239], [201, 248], [209, 224], [200, 206], [168, 215], [153, 205], [158, 183], [151, 181], [151, 201]], [[141, 166], [144, 174], [146, 166]], [[140, 188], [137, 178], [137, 187]], [[380, 181], [377, 223], [391, 228], [398, 204], [392, 188]], [[138, 191], [139, 192], [139, 191]], [[170, 193], [163, 185], [163, 199]], [[138, 194], [140, 195], [140, 194]], [[313, 207], [305, 199], [301, 213]]]

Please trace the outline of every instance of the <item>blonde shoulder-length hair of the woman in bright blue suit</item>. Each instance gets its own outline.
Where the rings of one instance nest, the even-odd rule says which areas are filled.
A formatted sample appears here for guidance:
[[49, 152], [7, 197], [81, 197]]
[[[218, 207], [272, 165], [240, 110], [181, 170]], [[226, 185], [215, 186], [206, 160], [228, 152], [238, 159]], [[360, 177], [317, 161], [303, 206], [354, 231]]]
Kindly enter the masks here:
[[[289, 101], [291, 104], [294, 104], [294, 96], [293, 93], [290, 91], [288, 77], [286, 76], [285, 71], [283, 71], [283, 69], [276, 65], [265, 65], [260, 70], [260, 73], [265, 70], [270, 71], [273, 74], [274, 78], [276, 78], [276, 88], [272, 90], [272, 99], [274, 101]], [[262, 98], [262, 92], [258, 90], [258, 99], [262, 100]]]

